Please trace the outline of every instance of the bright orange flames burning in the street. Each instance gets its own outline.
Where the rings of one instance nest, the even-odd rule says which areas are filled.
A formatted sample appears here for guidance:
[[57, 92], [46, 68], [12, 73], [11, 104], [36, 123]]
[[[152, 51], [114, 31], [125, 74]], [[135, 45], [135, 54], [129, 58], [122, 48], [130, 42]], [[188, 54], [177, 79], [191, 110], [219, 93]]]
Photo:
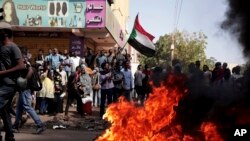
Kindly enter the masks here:
[[[153, 88], [143, 107], [129, 103], [123, 97], [118, 103], [109, 105], [104, 118], [111, 123], [111, 127], [97, 141], [201, 140], [199, 137], [184, 135], [181, 125], [175, 123], [175, 107], [187, 93], [187, 90], [178, 88], [182, 84], [174, 85], [177, 82], [184, 82], [183, 77], [171, 76], [167, 84]], [[212, 139], [213, 135], [220, 139], [213, 124], [204, 123], [201, 130], [206, 134], [206, 140]]]

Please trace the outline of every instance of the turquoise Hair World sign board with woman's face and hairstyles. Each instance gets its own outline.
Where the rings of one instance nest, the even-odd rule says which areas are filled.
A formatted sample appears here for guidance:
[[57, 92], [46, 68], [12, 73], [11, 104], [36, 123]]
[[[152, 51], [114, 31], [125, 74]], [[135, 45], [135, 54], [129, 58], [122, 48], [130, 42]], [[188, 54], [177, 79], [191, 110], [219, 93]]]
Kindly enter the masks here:
[[0, 0], [3, 21], [11, 25], [40, 27], [85, 27], [83, 0]]

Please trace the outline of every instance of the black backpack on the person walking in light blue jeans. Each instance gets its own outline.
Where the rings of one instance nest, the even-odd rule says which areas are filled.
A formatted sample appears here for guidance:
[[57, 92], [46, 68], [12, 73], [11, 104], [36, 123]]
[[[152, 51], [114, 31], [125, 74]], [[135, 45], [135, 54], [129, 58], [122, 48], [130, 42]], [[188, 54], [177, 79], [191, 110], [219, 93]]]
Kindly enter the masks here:
[[32, 70], [33, 73], [31, 77], [28, 79], [28, 86], [31, 91], [40, 91], [43, 88], [40, 75], [36, 70], [36, 68], [32, 67]]

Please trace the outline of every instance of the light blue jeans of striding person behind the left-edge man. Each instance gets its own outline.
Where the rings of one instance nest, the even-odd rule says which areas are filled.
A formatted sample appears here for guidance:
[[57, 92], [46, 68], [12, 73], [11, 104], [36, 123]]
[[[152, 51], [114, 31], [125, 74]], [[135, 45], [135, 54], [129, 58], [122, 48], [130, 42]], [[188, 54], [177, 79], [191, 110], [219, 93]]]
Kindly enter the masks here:
[[25, 110], [31, 116], [37, 127], [44, 126], [41, 119], [38, 117], [36, 111], [32, 107], [31, 102], [32, 102], [31, 91], [29, 89], [22, 90], [19, 94], [19, 99], [16, 108], [16, 120], [14, 123], [15, 127], [18, 127], [19, 125], [19, 122], [22, 118], [23, 110]]

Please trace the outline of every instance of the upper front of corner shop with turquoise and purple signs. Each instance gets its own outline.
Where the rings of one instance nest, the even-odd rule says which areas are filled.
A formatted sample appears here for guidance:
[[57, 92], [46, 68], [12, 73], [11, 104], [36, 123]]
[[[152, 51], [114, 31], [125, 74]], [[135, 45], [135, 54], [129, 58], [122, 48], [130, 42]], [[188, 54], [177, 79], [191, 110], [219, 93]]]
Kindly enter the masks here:
[[0, 0], [0, 5], [3, 21], [12, 25], [14, 42], [33, 56], [40, 48], [45, 53], [49, 48], [68, 49], [83, 56], [86, 48], [122, 45], [122, 28], [106, 0]]

